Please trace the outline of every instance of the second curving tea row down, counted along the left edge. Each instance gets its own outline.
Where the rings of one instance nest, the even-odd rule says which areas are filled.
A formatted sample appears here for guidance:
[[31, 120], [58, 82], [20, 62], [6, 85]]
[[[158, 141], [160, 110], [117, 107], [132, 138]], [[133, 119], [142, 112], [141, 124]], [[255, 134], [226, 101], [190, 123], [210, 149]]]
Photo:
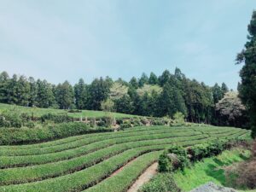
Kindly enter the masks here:
[[[179, 137], [178, 137], [179, 136]], [[194, 137], [192, 137], [194, 136]], [[154, 143], [154, 139], [160, 140], [160, 142], [165, 141], [165, 139], [203, 139], [207, 138], [207, 135], [196, 135], [196, 134], [189, 134], [188, 133], [166, 133], [162, 134], [152, 134], [152, 135], [145, 135], [145, 136], [135, 136], [135, 137], [120, 137], [115, 139], [107, 139], [102, 142], [97, 143], [90, 143], [79, 148], [73, 148], [69, 150], [64, 150], [57, 153], [51, 154], [40, 154], [40, 155], [25, 155], [25, 156], [0, 156], [0, 167], [13, 167], [13, 166], [30, 166], [30, 165], [38, 165], [44, 164], [49, 162], [55, 162], [57, 160], [68, 160], [75, 157], [79, 157], [84, 154], [88, 154], [90, 152], [96, 151], [100, 148], [107, 148], [115, 144], [119, 143], [141, 143], [145, 142], [152, 142]]]

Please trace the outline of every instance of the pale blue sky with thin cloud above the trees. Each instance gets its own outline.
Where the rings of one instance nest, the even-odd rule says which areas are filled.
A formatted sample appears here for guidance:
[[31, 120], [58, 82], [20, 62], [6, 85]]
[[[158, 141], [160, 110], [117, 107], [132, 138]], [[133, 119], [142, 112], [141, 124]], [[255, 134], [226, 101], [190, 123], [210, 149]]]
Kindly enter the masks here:
[[0, 72], [58, 84], [178, 67], [236, 90], [255, 0], [0, 0]]

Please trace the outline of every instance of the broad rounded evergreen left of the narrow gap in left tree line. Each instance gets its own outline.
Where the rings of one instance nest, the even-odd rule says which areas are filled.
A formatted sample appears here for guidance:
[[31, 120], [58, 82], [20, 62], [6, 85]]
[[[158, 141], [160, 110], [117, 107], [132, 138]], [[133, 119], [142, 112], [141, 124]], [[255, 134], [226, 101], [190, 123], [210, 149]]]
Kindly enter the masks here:
[[56, 102], [61, 109], [73, 108], [74, 94], [73, 86], [65, 81], [56, 87]]

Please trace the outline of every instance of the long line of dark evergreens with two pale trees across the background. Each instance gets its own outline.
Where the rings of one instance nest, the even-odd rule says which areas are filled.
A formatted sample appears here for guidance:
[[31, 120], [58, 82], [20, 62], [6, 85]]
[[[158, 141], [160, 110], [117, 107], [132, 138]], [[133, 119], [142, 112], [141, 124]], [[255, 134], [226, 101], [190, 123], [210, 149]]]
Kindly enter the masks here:
[[226, 84], [213, 87], [188, 79], [176, 68], [159, 77], [146, 73], [129, 82], [106, 77], [85, 84], [50, 84], [46, 80], [0, 73], [0, 102], [38, 108], [78, 108], [101, 110], [102, 102], [111, 100], [113, 110], [144, 116], [170, 116], [181, 112], [190, 122], [216, 122], [214, 105], [229, 91]]

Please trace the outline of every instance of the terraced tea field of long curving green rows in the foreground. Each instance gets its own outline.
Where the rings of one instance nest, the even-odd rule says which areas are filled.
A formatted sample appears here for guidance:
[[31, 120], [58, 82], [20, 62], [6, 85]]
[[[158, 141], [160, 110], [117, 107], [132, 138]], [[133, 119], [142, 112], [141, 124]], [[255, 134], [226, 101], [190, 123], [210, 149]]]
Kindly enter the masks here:
[[190, 146], [249, 134], [227, 127], [151, 126], [0, 146], [0, 191], [126, 191], [173, 143]]

